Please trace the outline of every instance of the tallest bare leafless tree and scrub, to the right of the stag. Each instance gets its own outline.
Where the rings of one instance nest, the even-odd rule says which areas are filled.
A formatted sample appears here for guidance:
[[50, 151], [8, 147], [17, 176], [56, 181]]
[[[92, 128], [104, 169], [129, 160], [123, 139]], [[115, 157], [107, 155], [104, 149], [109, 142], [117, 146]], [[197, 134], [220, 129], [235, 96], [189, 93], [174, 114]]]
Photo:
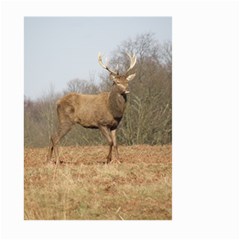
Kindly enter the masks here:
[[[118, 52], [118, 54], [115, 54]], [[119, 128], [118, 140], [125, 144], [166, 144], [172, 136], [172, 44], [160, 43], [146, 33], [122, 42], [110, 63], [126, 63], [124, 52], [138, 58], [136, 82], [129, 84], [127, 108]], [[107, 81], [103, 79], [103, 83]], [[107, 86], [103, 84], [103, 86]]]

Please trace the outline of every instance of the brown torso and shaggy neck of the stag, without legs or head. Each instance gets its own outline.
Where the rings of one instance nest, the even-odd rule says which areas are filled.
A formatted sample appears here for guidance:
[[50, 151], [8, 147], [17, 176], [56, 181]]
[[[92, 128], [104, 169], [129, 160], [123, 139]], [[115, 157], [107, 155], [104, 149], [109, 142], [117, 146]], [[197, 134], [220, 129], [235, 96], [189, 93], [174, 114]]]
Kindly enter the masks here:
[[57, 111], [60, 118], [67, 118], [73, 124], [85, 128], [102, 125], [114, 130], [123, 116], [126, 100], [127, 97], [114, 88], [111, 92], [96, 95], [69, 93], [57, 102]]

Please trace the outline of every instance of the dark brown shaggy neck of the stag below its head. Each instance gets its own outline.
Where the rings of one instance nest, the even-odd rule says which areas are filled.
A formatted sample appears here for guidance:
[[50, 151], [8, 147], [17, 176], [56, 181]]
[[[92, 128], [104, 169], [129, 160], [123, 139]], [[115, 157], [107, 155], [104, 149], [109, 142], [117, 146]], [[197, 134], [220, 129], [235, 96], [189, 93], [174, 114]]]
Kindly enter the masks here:
[[113, 85], [109, 94], [109, 108], [115, 119], [121, 119], [126, 107], [127, 96], [121, 94], [116, 85]]

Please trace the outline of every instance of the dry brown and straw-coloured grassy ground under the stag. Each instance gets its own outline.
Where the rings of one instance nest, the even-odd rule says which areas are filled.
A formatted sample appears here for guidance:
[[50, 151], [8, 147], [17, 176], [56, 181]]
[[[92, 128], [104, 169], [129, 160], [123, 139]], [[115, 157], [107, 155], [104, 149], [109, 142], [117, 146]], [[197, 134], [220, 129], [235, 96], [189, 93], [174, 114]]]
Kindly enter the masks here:
[[[121, 164], [102, 164], [107, 146], [25, 148], [24, 219], [171, 220], [172, 146], [119, 146]], [[114, 157], [114, 152], [113, 152]]]

